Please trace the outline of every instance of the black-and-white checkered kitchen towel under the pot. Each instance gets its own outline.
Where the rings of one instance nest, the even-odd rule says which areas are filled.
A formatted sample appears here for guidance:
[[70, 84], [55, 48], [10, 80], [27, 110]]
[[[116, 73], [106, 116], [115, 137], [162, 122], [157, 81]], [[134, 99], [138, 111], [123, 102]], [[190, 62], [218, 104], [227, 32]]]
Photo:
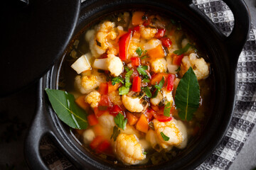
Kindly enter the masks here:
[[[206, 15], [223, 31], [229, 35], [234, 26], [233, 13], [220, 0], [193, 0]], [[238, 156], [247, 137], [256, 123], [256, 30], [250, 30], [245, 47], [238, 61], [238, 92], [235, 103], [235, 113], [228, 132], [213, 154], [196, 169], [228, 169]], [[50, 169], [74, 169], [72, 164], [63, 157], [44, 138], [41, 141], [41, 154]]]

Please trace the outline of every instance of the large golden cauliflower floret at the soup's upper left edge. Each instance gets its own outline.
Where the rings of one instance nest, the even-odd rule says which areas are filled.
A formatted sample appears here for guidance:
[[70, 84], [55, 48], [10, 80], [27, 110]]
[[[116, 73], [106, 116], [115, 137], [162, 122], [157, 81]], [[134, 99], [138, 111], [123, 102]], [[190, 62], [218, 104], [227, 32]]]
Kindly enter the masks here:
[[[114, 30], [114, 23], [110, 21], [101, 23], [96, 30], [97, 31], [95, 33], [92, 31], [89, 32], [88, 35], [85, 35], [85, 38], [90, 41], [90, 50], [92, 55], [97, 58], [113, 46], [110, 40], [117, 38], [117, 33]], [[113, 52], [114, 51], [111, 53]], [[116, 54], [116, 52], [113, 54]]]

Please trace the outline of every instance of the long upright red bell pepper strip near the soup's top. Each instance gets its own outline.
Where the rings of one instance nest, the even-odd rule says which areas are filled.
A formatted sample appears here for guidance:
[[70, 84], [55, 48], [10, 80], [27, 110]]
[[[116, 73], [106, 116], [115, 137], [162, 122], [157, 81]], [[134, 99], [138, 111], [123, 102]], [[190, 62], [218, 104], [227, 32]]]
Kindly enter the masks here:
[[127, 60], [129, 42], [132, 32], [126, 33], [119, 38], [119, 57], [121, 60]]

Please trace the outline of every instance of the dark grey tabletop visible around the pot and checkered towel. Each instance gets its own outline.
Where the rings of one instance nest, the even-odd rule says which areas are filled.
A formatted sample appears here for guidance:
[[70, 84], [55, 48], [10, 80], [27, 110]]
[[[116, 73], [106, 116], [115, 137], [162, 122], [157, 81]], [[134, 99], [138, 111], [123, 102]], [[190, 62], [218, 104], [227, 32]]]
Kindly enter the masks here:
[[[256, 0], [245, 0], [256, 26]], [[10, 79], [15, 79], [10, 77]], [[3, 82], [1, 82], [3, 83]], [[0, 98], [0, 169], [28, 169], [23, 157], [26, 132], [36, 111], [37, 84], [18, 94]], [[256, 167], [256, 128], [245, 142], [230, 169]]]

